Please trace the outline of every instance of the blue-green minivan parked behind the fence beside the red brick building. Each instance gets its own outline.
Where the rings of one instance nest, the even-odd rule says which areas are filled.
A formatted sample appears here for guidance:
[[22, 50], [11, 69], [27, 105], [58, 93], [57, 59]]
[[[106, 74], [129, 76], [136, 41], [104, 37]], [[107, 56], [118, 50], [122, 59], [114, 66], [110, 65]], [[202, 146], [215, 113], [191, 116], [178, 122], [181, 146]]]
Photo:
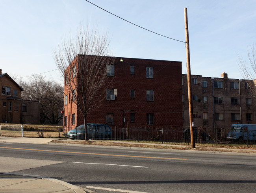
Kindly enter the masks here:
[[[77, 133], [77, 134], [76, 134]], [[72, 129], [68, 132], [67, 136], [70, 139], [84, 139], [84, 124]], [[88, 123], [87, 124], [87, 136], [89, 139], [109, 139], [112, 137], [112, 129], [105, 124]]]

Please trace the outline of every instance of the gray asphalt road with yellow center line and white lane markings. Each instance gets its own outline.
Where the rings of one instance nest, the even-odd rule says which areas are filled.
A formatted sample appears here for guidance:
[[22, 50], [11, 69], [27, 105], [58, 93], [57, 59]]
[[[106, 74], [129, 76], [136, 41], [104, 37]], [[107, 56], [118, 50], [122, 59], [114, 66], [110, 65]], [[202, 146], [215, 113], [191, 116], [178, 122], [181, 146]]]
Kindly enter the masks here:
[[52, 177], [98, 193], [256, 192], [256, 156], [245, 155], [0, 143], [0, 171]]

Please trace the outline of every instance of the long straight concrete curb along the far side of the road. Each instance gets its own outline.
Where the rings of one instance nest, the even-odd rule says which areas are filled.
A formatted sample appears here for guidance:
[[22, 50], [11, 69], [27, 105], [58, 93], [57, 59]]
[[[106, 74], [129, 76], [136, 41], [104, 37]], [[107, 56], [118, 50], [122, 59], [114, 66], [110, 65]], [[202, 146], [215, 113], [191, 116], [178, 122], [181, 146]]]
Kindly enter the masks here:
[[176, 151], [176, 152], [187, 152], [187, 153], [209, 153], [209, 154], [226, 154], [226, 155], [250, 155], [256, 156], [256, 153], [237, 153], [237, 152], [226, 152], [226, 151], [199, 151], [199, 150], [181, 150], [181, 149], [156, 149], [156, 148], [145, 148], [145, 147], [124, 147], [124, 146], [96, 146], [96, 145], [82, 145], [82, 144], [68, 144], [68, 143], [55, 143], [49, 142], [49, 145], [59, 146], [77, 146], [77, 147], [101, 147], [101, 148], [115, 148], [115, 149], [145, 149], [150, 151]]

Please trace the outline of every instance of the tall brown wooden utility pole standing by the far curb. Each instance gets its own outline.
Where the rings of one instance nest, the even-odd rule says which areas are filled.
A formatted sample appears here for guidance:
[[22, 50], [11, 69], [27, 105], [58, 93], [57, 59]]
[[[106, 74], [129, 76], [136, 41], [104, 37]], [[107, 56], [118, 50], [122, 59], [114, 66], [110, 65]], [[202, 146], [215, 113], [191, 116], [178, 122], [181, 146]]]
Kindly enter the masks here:
[[189, 54], [189, 36], [188, 36], [188, 24], [187, 24], [187, 8], [184, 8], [184, 19], [185, 19], [185, 32], [186, 32], [186, 52], [187, 52], [187, 91], [188, 91], [188, 102], [189, 102], [189, 122], [190, 122], [190, 138], [191, 148], [195, 148], [194, 140], [194, 120], [193, 120], [193, 105], [192, 105], [192, 88], [191, 88], [191, 72], [190, 72], [190, 54]]

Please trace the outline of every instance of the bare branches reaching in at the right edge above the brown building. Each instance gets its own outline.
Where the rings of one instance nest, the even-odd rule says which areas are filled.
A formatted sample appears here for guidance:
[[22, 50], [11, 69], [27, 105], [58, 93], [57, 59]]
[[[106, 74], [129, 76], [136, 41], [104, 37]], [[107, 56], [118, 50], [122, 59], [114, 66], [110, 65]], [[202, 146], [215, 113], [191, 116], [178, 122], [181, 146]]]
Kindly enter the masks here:
[[240, 72], [246, 81], [247, 85], [245, 86], [250, 89], [252, 96], [256, 98], [256, 47], [253, 45], [250, 49], [248, 48], [247, 54], [249, 64], [242, 56], [238, 56]]

